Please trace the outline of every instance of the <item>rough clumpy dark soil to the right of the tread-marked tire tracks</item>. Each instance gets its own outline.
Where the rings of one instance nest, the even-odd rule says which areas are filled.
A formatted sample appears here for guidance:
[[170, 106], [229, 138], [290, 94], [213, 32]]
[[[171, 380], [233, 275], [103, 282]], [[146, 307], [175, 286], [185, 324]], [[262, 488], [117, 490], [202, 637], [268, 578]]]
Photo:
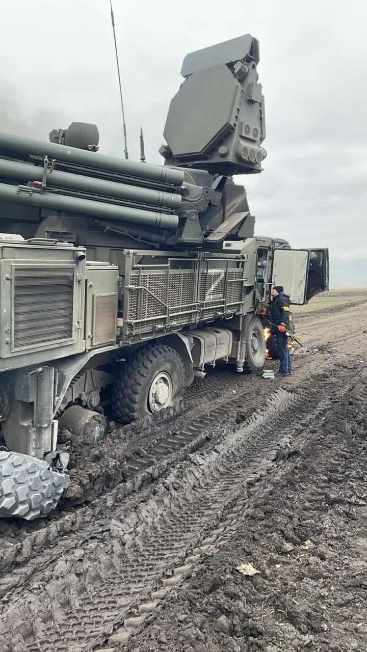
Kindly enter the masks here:
[[[265, 479], [251, 488], [249, 501], [239, 499], [232, 523], [228, 514], [215, 541], [198, 550], [185, 569], [188, 576], [182, 572], [172, 596], [161, 591], [150, 611], [149, 604], [148, 610], [144, 602], [138, 605], [144, 620], [127, 628], [123, 649], [181, 651], [191, 643], [202, 652], [238, 652], [238, 637], [246, 649], [248, 642], [249, 649], [264, 651], [308, 645], [325, 651], [366, 649], [366, 381], [362, 370], [342, 400], [328, 406], [317, 433], [306, 445], [300, 442], [302, 458], [290, 461], [287, 473], [278, 469], [271, 483]], [[246, 557], [259, 569], [254, 578], [259, 581], [238, 579], [235, 569]], [[333, 587], [335, 567], [338, 590], [329, 593], [328, 614], [321, 615], [325, 578]], [[226, 614], [229, 630], [215, 627], [219, 614]], [[109, 643], [117, 644], [119, 636]]]

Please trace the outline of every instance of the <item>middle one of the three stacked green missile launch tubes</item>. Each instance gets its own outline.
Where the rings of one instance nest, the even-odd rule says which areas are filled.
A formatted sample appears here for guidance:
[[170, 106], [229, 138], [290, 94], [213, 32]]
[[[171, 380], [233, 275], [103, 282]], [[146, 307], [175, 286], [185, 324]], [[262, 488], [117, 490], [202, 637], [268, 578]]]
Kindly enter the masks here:
[[[27, 181], [42, 181], [42, 175], [43, 168], [41, 166], [0, 158], [0, 177], [7, 177], [7, 179], [14, 179], [26, 183]], [[84, 177], [59, 170], [49, 171], [46, 183], [50, 186], [57, 186], [58, 188], [71, 188], [71, 190], [91, 192], [94, 195], [101, 194], [110, 198], [116, 197], [135, 201], [136, 203], [148, 203], [152, 206], [165, 206], [166, 208], [178, 209], [181, 203], [181, 195], [179, 194], [129, 186], [125, 183], [105, 181], [104, 179], [95, 179], [94, 177]]]

